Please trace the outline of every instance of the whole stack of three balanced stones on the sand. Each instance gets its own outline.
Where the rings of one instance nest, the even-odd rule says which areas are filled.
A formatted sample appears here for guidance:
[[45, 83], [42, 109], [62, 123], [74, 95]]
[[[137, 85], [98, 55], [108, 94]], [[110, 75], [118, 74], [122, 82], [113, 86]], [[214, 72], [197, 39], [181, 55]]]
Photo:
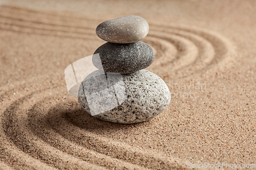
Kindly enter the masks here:
[[78, 100], [84, 110], [99, 119], [132, 124], [163, 112], [170, 102], [164, 81], [145, 70], [155, 53], [141, 42], [149, 27], [140, 16], [124, 16], [100, 23], [99, 38], [108, 41], [93, 55], [98, 70], [83, 80]]

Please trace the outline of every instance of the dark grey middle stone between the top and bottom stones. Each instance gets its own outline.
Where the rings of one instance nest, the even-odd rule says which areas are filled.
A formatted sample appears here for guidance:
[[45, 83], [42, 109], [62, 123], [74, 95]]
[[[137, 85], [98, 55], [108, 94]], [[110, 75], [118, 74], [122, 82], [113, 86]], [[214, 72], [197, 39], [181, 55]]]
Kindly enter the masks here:
[[127, 74], [150, 66], [154, 59], [155, 53], [150, 45], [138, 41], [130, 44], [104, 43], [94, 52], [92, 61], [104, 72]]

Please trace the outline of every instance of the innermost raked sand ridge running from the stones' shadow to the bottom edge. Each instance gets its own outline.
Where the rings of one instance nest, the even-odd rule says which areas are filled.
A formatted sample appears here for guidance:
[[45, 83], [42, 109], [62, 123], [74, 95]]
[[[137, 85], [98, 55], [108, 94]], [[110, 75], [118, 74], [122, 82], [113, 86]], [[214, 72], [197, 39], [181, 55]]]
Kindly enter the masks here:
[[[49, 120], [51, 120], [51, 117], [49, 118]], [[76, 132], [79, 132], [79, 133], [68, 134], [68, 135], [63, 134], [61, 132], [61, 129], [62, 129], [61, 127], [66, 127], [66, 126], [73, 127], [74, 129], [76, 129]], [[138, 165], [144, 166], [146, 168], [169, 169], [177, 166], [174, 161], [173, 162], [169, 161], [168, 159], [163, 158], [159, 155], [156, 155], [155, 153], [149, 153], [148, 151], [141, 150], [136, 147], [131, 147], [131, 145], [125, 144], [124, 142], [118, 142], [110, 138], [102, 137], [102, 136], [96, 135], [93, 132], [89, 132], [89, 131], [84, 132], [83, 128], [79, 126], [81, 125], [76, 125], [74, 124], [74, 122], [70, 122], [70, 118], [66, 116], [66, 118], [63, 119], [63, 121], [61, 122], [61, 125], [59, 127], [55, 127], [54, 129], [56, 130], [57, 133], [59, 133], [63, 137], [68, 138], [73, 142], [77, 142], [79, 145], [82, 145], [83, 147], [86, 147], [90, 150], [99, 152], [101, 154], [110, 155], [112, 157], [114, 157], [116, 153], [119, 153], [119, 155], [114, 158], [121, 159], [130, 163], [132, 163], [133, 161], [136, 161]], [[79, 138], [81, 139], [80, 134], [83, 134], [83, 137], [82, 137], [83, 140], [77, 140]], [[87, 145], [83, 141], [87, 141], [90, 144], [87, 143], [88, 144]], [[95, 145], [100, 147], [100, 149], [98, 148], [96, 150], [96, 148], [94, 148]], [[108, 150], [105, 150], [105, 147], [107, 147]], [[146, 158], [146, 156], [148, 155], [150, 155], [151, 158]], [[155, 162], [155, 163], [159, 162], [160, 165], [152, 165], [151, 164], [152, 162]]]

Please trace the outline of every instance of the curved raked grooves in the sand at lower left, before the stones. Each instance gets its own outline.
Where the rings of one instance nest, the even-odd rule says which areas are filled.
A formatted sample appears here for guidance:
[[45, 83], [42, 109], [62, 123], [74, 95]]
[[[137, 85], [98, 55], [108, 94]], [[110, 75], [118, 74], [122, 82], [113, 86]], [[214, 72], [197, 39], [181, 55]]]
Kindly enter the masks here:
[[[10, 106], [3, 113], [4, 117], [6, 117], [3, 121], [3, 128], [7, 135], [6, 140], [11, 140], [11, 143], [14, 143], [19, 150], [23, 151], [24, 157], [28, 155], [33, 159], [41, 161], [42, 165], [49, 164], [59, 169], [71, 167], [99, 169], [94, 164], [114, 169], [123, 169], [124, 167], [128, 169], [143, 169], [143, 166], [153, 169], [168, 169], [176, 166], [176, 164], [172, 165], [168, 160], [164, 160], [159, 156], [152, 155], [148, 159], [146, 158], [148, 154], [143, 153], [139, 149], [134, 152], [135, 149], [127, 144], [111, 141], [110, 139], [81, 130], [81, 128], [78, 128], [81, 125], [73, 125], [74, 120], [71, 124], [69, 122], [70, 118], [67, 117], [69, 113], [76, 113], [77, 110], [80, 114], [84, 113], [75, 102], [73, 104], [74, 108], [67, 109], [69, 111], [60, 110], [60, 113], [55, 111], [58, 110], [58, 105], [65, 105], [65, 103], [63, 104], [60, 101], [53, 102], [56, 95], [59, 97], [65, 93], [65, 86], [57, 90], [60, 94], [51, 92], [51, 90], [55, 90], [57, 87], [41, 90], [38, 90], [37, 87], [34, 88], [32, 90], [31, 87], [31, 90], [27, 93], [19, 91], [20, 94], [25, 95], [16, 101], [11, 101]], [[49, 93], [52, 93], [52, 96], [49, 96]], [[12, 92], [7, 95], [11, 94]], [[31, 102], [34, 104], [31, 105]], [[44, 110], [49, 103], [54, 103], [55, 107], [49, 111]], [[69, 129], [72, 129], [73, 132], [75, 129], [75, 132], [78, 133], [71, 133], [68, 136], [61, 135], [61, 131]], [[85, 141], [86, 144], [84, 144]], [[97, 148], [101, 148], [101, 150], [95, 150], [95, 145], [98, 146]], [[108, 150], [105, 150], [106, 147]], [[119, 157], [113, 158], [112, 153], [120, 150], [122, 152], [120, 152]], [[15, 153], [12, 154], [15, 155]], [[132, 164], [132, 160], [138, 160], [138, 165]], [[152, 161], [160, 162], [159, 167], [152, 167], [151, 164], [147, 163]], [[31, 167], [33, 165], [28, 166], [28, 168]]]

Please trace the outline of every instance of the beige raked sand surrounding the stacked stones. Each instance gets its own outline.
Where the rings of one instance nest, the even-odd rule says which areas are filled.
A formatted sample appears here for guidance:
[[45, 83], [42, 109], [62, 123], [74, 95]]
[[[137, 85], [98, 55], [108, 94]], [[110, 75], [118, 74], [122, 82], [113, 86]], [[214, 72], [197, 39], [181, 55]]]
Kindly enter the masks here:
[[[254, 1], [0, 3], [0, 169], [256, 164]], [[68, 94], [64, 70], [104, 43], [99, 23], [131, 14], [150, 25], [147, 69], [172, 100], [148, 122], [108, 123]]]

